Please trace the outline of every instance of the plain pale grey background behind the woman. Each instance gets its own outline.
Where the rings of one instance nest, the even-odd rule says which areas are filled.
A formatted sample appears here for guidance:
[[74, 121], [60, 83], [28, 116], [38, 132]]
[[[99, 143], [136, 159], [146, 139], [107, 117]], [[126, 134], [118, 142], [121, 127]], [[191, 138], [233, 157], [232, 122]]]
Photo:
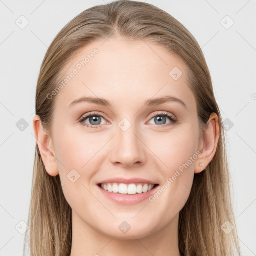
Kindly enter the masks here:
[[[71, 18], [104, 2], [110, 1], [0, 0], [1, 256], [23, 251], [35, 148], [35, 89], [47, 46]], [[242, 255], [256, 255], [256, 0], [146, 2], [179, 20], [202, 47], [227, 129]], [[25, 22], [29, 24], [21, 27]]]

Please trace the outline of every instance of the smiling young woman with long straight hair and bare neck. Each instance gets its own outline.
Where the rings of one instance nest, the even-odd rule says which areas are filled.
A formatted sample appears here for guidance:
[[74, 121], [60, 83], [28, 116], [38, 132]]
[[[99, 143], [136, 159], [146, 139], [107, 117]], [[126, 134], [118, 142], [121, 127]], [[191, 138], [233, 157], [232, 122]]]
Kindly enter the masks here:
[[210, 72], [163, 10], [115, 1], [71, 20], [34, 132], [32, 255], [240, 255]]

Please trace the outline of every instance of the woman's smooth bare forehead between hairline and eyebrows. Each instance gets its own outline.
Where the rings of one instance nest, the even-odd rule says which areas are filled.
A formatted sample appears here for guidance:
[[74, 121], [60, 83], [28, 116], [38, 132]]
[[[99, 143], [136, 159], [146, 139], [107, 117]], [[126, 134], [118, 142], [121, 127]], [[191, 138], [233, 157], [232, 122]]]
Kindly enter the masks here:
[[67, 108], [81, 96], [107, 98], [131, 105], [171, 95], [190, 107], [195, 98], [183, 60], [163, 46], [146, 40], [108, 38], [81, 48], [66, 64], [56, 107]]

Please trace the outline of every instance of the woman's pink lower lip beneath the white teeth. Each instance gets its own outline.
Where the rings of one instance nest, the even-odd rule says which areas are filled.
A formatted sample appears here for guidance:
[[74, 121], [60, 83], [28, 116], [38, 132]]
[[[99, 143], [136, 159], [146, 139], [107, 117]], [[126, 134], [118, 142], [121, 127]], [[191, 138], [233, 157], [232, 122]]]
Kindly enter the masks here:
[[143, 200], [147, 199], [149, 196], [155, 193], [157, 187], [155, 186], [153, 189], [146, 193], [137, 193], [137, 194], [120, 194], [120, 193], [113, 193], [108, 192], [97, 185], [100, 191], [110, 200], [121, 203], [121, 204], [136, 204], [142, 202]]

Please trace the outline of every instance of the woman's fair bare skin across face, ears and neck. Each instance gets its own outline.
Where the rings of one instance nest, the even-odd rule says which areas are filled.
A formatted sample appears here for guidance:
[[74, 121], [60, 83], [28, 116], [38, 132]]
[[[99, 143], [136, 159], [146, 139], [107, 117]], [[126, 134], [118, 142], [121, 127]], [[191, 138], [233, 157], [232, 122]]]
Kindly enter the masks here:
[[[199, 137], [196, 100], [189, 88], [187, 67], [180, 57], [162, 46], [144, 41], [109, 38], [82, 48], [66, 65], [69, 74], [84, 56], [99, 53], [51, 100], [56, 100], [51, 133], [34, 116], [34, 132], [49, 175], [60, 175], [64, 196], [72, 208], [72, 256], [81, 255], [181, 255], [178, 250], [178, 218], [199, 173], [212, 160], [218, 142], [218, 119], [211, 114]], [[182, 76], [174, 80], [177, 66]], [[178, 102], [145, 106], [144, 100], [174, 96]], [[68, 105], [81, 96], [105, 98], [112, 106], [88, 102]], [[97, 129], [79, 122], [85, 113], [101, 115]], [[161, 112], [176, 116], [177, 123], [159, 124]], [[158, 114], [158, 115], [157, 115]], [[118, 123], [126, 118], [127, 131]], [[84, 121], [85, 122], [85, 121]], [[86, 119], [90, 125], [93, 121]], [[165, 127], [160, 127], [164, 126]], [[99, 125], [97, 125], [99, 126]], [[107, 199], [96, 186], [112, 177], [139, 177], [161, 187], [196, 151], [201, 154], [157, 198], [123, 205]], [[199, 163], [203, 166], [199, 166]], [[75, 169], [80, 178], [72, 183], [67, 174]], [[122, 233], [123, 221], [131, 226]]]

